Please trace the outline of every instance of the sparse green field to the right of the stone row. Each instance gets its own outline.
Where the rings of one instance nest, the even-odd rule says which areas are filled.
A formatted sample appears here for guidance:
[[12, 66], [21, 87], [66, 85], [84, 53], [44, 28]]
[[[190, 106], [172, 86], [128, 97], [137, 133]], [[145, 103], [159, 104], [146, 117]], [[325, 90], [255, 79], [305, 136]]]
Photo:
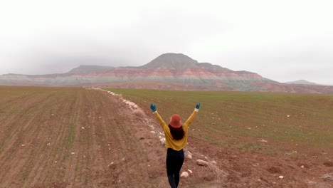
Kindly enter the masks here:
[[332, 152], [333, 95], [107, 90], [122, 94], [146, 112], [155, 103], [164, 120], [178, 113], [185, 121], [200, 102], [190, 137], [223, 147], [297, 157]]

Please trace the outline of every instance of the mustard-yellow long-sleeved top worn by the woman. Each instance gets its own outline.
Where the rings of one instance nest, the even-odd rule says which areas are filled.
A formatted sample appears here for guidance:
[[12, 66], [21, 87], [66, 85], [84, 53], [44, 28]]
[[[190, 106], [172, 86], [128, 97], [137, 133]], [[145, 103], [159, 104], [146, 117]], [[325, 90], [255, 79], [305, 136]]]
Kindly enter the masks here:
[[194, 112], [191, 114], [189, 119], [186, 120], [186, 122], [183, 124], [183, 130], [184, 130], [184, 137], [181, 140], [174, 140], [172, 138], [169, 126], [166, 125], [162, 117], [157, 113], [157, 111], [154, 112], [155, 117], [157, 117], [157, 120], [159, 120], [159, 123], [161, 124], [162, 129], [164, 130], [165, 135], [165, 147], [169, 147], [173, 150], [179, 151], [183, 149], [187, 144], [187, 136], [189, 133], [189, 125], [194, 120], [194, 117], [196, 117], [196, 114], [199, 110], [194, 110]]

